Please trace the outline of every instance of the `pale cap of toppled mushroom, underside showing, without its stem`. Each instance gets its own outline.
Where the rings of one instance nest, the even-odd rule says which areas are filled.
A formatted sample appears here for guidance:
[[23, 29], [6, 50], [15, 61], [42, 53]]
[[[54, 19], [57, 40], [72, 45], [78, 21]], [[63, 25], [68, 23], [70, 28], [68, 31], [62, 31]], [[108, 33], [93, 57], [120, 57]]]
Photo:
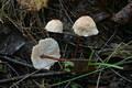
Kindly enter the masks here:
[[41, 40], [32, 50], [32, 63], [36, 69], [50, 69], [57, 61], [41, 58], [42, 55], [59, 58], [59, 46], [54, 38]]

